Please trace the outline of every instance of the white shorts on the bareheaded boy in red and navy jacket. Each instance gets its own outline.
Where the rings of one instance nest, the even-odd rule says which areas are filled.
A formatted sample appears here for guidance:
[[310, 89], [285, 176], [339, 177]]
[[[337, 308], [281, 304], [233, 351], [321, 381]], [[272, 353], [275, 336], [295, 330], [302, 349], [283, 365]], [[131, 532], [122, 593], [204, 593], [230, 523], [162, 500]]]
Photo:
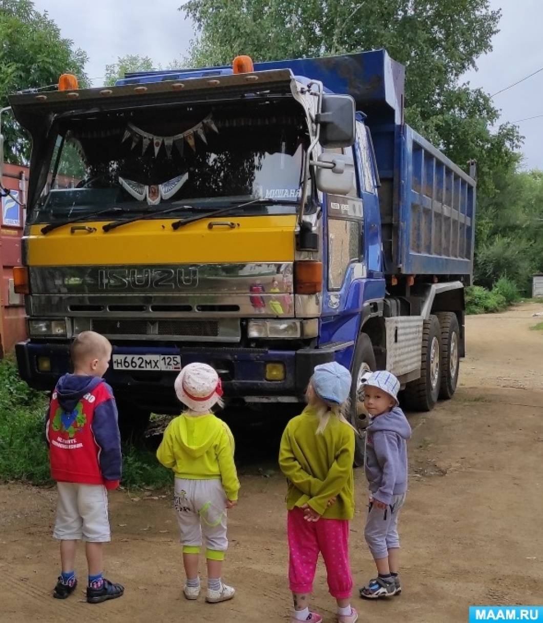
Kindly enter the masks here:
[[57, 492], [55, 539], [111, 541], [108, 493], [103, 485], [57, 482]]

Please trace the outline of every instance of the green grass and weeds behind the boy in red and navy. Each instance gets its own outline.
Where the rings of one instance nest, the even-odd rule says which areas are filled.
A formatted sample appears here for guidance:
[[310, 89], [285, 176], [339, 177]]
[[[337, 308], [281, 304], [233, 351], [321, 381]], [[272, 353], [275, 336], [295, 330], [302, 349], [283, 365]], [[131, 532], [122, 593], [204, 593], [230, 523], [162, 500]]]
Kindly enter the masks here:
[[[44, 419], [47, 397], [21, 381], [12, 359], [0, 361], [0, 480], [50, 485]], [[123, 446], [123, 479], [130, 489], [171, 487], [173, 475], [154, 452]]]

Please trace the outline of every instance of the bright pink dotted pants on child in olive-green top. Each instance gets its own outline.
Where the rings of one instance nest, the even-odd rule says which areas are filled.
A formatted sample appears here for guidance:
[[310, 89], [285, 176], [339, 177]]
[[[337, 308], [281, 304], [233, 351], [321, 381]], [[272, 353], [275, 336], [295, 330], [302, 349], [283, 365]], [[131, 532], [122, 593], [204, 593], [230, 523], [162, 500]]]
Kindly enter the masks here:
[[319, 552], [323, 554], [328, 588], [336, 599], [351, 597], [349, 564], [349, 521], [319, 519], [306, 521], [303, 510], [293, 508], [287, 518], [290, 559], [288, 579], [292, 592], [313, 592], [313, 579]]

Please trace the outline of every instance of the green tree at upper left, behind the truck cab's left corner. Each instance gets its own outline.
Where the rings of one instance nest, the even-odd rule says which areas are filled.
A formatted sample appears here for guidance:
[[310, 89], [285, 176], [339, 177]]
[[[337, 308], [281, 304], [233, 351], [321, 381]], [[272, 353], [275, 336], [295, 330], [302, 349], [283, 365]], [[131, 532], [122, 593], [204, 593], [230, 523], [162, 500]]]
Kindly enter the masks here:
[[[31, 0], [0, 2], [0, 40], [0, 107], [8, 105], [9, 93], [55, 85], [60, 74], [75, 74], [86, 85], [87, 54], [61, 37], [47, 12], [36, 11]], [[9, 113], [2, 115], [2, 133], [4, 158], [26, 163], [30, 143]]]

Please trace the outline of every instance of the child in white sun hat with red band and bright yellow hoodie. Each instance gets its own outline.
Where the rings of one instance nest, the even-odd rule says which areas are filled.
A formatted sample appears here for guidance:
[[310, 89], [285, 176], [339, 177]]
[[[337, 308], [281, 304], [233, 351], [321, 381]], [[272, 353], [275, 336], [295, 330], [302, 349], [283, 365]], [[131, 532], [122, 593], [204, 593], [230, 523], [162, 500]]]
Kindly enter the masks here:
[[232, 432], [211, 412], [215, 405], [222, 406], [222, 387], [213, 368], [191, 363], [177, 376], [174, 389], [187, 410], [169, 423], [156, 456], [175, 474], [174, 506], [187, 575], [183, 592], [187, 599], [199, 597], [203, 535], [207, 561], [205, 601], [226, 601], [235, 592], [221, 579], [228, 546], [226, 510], [237, 504], [240, 483]]

